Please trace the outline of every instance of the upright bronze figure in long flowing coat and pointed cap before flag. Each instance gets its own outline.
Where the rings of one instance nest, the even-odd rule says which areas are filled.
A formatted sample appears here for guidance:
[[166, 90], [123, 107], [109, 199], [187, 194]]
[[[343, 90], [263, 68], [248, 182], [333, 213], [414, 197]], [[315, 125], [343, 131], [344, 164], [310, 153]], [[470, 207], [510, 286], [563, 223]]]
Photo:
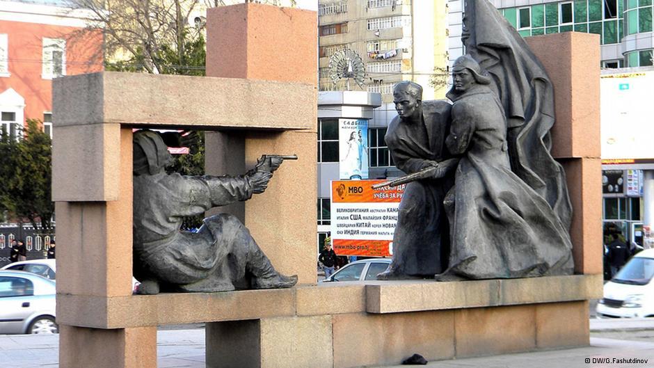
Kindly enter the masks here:
[[572, 244], [555, 210], [511, 171], [507, 119], [490, 77], [469, 55], [456, 59], [447, 97], [447, 149], [463, 154], [445, 204], [452, 221], [452, 278], [518, 278], [573, 271]]

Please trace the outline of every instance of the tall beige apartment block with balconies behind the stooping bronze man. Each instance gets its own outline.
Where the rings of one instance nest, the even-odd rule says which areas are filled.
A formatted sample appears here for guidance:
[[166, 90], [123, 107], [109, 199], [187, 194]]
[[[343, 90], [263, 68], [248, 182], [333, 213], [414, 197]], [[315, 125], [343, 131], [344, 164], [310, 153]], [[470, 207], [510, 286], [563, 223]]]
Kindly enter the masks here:
[[382, 94], [392, 101], [392, 86], [420, 83], [424, 99], [445, 97], [447, 77], [447, 0], [319, 0], [319, 88], [344, 90], [345, 81], [329, 78], [329, 60], [352, 49], [365, 65], [365, 86], [353, 90]]

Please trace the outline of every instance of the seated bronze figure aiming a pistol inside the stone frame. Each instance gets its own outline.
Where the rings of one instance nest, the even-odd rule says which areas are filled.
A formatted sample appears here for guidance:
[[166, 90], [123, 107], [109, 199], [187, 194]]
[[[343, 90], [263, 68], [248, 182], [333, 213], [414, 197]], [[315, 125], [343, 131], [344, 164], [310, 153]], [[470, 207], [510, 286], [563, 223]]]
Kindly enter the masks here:
[[278, 273], [248, 229], [236, 217], [205, 218], [196, 233], [180, 230], [182, 218], [213, 207], [248, 200], [266, 190], [282, 163], [239, 177], [166, 174], [171, 163], [161, 136], [134, 134], [134, 276], [141, 294], [166, 291], [227, 291], [249, 278], [253, 289], [292, 287], [296, 276]]

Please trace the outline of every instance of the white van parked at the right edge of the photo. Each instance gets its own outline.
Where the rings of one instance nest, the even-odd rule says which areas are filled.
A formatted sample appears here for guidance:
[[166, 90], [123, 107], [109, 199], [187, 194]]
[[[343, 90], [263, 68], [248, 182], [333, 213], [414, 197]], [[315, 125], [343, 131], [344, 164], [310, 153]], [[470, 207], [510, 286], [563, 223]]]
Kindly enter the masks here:
[[597, 305], [597, 316], [654, 317], [654, 249], [634, 255], [604, 285], [604, 298]]

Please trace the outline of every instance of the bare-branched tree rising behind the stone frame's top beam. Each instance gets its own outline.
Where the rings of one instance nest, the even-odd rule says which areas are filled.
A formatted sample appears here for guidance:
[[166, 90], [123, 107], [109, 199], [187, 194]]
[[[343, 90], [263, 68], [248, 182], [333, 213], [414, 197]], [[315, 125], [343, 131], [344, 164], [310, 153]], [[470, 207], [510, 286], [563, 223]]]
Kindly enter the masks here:
[[[204, 61], [198, 61], [199, 48], [205, 47], [205, 10], [241, 1], [72, 0], [72, 6], [90, 11], [97, 21], [90, 27], [102, 29], [108, 69], [197, 74], [193, 71], [204, 70]], [[256, 2], [296, 6], [296, 0]], [[80, 31], [78, 38], [83, 35]]]

